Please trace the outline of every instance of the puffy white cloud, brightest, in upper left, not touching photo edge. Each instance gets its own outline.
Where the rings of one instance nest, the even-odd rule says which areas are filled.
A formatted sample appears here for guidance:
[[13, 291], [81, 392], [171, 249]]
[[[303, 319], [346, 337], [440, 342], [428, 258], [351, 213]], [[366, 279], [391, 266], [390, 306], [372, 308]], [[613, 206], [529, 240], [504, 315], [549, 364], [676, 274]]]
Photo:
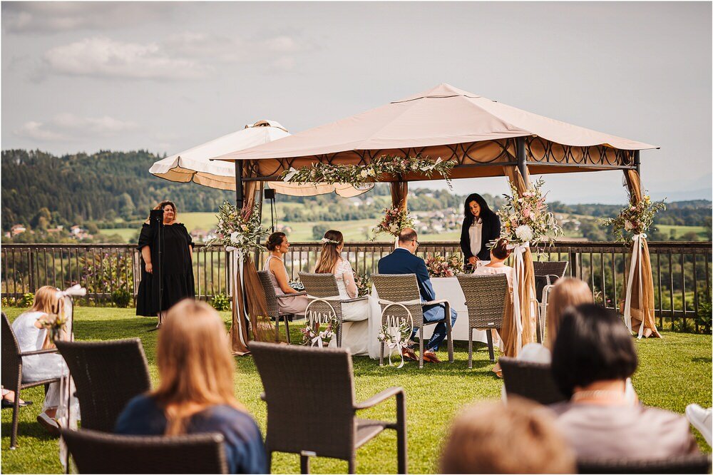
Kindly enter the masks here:
[[197, 61], [168, 55], [158, 44], [95, 37], [51, 48], [46, 66], [68, 76], [124, 79], [195, 79], [210, 71]]

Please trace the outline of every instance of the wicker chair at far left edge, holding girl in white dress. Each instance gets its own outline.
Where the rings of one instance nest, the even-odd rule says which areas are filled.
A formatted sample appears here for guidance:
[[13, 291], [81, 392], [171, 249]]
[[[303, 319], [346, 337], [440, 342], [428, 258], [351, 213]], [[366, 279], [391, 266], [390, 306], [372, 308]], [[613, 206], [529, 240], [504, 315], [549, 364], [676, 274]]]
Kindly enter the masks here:
[[46, 386], [58, 382], [59, 378], [42, 379], [41, 381], [22, 382], [22, 359], [34, 354], [56, 353], [56, 349], [41, 349], [35, 352], [21, 352], [20, 345], [12, 331], [10, 321], [2, 314], [2, 387], [15, 392], [15, 404], [12, 407], [12, 431], [10, 434], [10, 449], [15, 449], [17, 441], [17, 419], [20, 410], [20, 391], [29, 387]]

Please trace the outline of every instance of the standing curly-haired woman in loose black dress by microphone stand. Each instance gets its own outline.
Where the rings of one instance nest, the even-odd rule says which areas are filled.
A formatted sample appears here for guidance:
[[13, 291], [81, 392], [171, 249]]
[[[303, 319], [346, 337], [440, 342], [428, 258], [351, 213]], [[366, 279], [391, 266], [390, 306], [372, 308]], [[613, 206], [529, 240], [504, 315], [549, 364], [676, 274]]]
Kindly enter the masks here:
[[[155, 210], [163, 210], [163, 295], [159, 302], [158, 232], [148, 222], [141, 228], [138, 248], [141, 251], [141, 283], [138, 286], [136, 315], [163, 315], [176, 302], [195, 297], [193, 283], [193, 240], [181, 223], [176, 223], [176, 205], [163, 201]], [[156, 270], [156, 272], [154, 272]]]

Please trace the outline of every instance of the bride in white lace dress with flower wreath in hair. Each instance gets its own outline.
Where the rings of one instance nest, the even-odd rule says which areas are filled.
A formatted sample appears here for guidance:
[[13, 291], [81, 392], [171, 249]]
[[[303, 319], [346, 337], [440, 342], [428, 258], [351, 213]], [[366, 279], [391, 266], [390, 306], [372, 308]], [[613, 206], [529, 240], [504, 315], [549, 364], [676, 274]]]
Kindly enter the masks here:
[[[342, 259], [344, 235], [339, 231], [329, 230], [322, 238], [322, 252], [317, 260], [318, 274], [334, 274], [337, 278], [339, 297], [354, 299], [359, 296], [354, 282], [354, 271], [348, 260]], [[369, 302], [350, 302], [342, 305], [342, 347], [352, 354], [369, 353]], [[337, 339], [332, 338], [330, 347], [337, 346]]]

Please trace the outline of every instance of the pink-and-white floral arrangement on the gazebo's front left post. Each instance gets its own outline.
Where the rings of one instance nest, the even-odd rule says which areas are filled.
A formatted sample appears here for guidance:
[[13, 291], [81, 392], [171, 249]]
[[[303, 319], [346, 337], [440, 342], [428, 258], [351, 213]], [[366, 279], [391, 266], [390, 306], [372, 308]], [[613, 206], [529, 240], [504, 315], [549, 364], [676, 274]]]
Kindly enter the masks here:
[[260, 238], [267, 235], [267, 230], [260, 223], [260, 209], [258, 205], [252, 209], [250, 217], [245, 218], [235, 206], [227, 201], [218, 209], [217, 236], [210, 244], [222, 244], [237, 247], [242, 251], [255, 249], [266, 250], [265, 246], [257, 243]]

